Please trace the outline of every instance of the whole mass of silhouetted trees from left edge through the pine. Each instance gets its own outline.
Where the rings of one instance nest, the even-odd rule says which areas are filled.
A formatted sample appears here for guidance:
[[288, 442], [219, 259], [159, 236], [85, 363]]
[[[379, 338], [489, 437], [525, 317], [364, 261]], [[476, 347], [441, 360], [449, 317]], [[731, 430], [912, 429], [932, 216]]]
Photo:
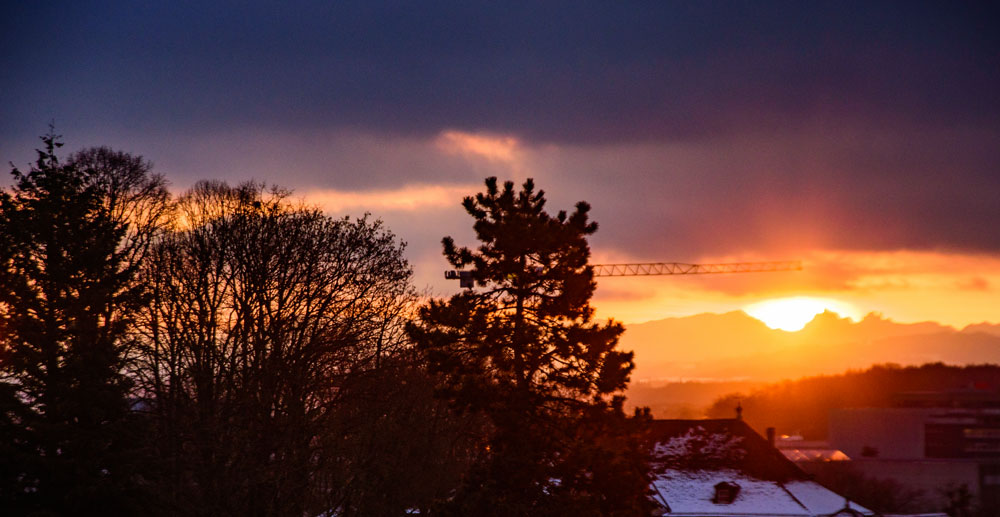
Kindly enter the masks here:
[[[473, 288], [419, 305], [404, 245], [247, 182], [174, 197], [58, 137], [0, 190], [0, 507], [61, 515], [636, 515], [632, 354], [594, 321], [589, 206], [464, 200]], [[87, 511], [87, 510], [84, 510]]]

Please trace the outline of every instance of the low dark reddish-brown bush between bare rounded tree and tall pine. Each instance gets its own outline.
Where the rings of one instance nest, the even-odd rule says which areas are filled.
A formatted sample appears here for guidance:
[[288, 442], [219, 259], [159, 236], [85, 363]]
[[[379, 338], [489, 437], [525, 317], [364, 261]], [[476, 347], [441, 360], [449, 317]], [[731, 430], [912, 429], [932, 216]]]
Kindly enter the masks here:
[[338, 515], [427, 514], [469, 468], [479, 419], [456, 416], [411, 352], [346, 379], [332, 447], [342, 452]]

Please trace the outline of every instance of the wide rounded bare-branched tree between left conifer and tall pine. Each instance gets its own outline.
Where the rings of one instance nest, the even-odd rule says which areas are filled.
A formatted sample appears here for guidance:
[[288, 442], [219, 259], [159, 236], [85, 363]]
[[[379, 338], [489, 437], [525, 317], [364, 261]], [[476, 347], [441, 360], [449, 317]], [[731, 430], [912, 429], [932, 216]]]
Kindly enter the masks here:
[[380, 222], [202, 182], [148, 263], [142, 385], [173, 511], [342, 513], [356, 486], [351, 380], [402, 347], [412, 299]]

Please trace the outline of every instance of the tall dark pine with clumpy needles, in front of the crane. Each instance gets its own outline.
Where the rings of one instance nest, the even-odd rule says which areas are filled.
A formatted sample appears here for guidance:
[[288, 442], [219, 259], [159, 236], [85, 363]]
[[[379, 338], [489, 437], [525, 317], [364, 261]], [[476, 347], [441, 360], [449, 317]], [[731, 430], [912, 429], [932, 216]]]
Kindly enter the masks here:
[[472, 267], [476, 287], [431, 301], [409, 328], [441, 394], [490, 427], [443, 509], [648, 515], [648, 414], [622, 411], [633, 368], [631, 352], [615, 348], [622, 326], [593, 321], [589, 205], [553, 217], [531, 180], [515, 192], [489, 178], [463, 206], [480, 245], [459, 248], [446, 237], [444, 254], [456, 268]]

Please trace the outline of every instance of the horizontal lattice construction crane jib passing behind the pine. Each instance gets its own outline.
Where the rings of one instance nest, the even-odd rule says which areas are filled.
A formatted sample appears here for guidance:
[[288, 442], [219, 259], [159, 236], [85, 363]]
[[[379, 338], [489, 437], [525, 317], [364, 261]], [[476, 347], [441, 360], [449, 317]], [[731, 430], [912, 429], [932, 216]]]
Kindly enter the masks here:
[[[685, 264], [683, 262], [645, 262], [635, 264], [592, 264], [594, 276], [715, 275], [725, 273], [769, 273], [801, 271], [802, 261], [729, 262], [724, 264]], [[448, 280], [458, 280], [462, 288], [472, 289], [472, 271], [445, 271]]]

